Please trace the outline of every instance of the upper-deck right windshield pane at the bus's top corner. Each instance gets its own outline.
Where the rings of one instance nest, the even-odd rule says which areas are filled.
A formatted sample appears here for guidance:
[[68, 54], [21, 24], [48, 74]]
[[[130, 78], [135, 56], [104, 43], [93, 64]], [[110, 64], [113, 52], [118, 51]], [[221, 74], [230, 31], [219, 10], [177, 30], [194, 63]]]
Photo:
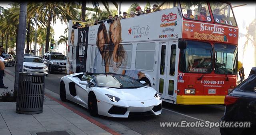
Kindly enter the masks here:
[[210, 6], [215, 22], [219, 24], [236, 26], [234, 14], [229, 4], [212, 1], [210, 2]]

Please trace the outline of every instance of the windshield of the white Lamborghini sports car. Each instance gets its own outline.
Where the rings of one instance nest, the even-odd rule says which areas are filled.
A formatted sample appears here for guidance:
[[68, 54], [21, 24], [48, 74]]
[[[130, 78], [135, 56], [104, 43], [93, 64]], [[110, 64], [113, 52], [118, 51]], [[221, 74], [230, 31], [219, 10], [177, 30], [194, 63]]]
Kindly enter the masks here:
[[127, 75], [99, 74], [95, 75], [99, 87], [113, 87], [118, 89], [143, 87], [142, 83]]

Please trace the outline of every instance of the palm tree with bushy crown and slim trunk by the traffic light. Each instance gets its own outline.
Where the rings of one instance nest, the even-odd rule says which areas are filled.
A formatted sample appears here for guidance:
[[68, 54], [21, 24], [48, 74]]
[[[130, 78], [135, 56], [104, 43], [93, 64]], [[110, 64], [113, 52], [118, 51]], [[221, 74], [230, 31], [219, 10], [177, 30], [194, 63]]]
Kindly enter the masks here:
[[37, 13], [39, 16], [47, 16], [47, 31], [46, 31], [46, 44], [45, 52], [49, 50], [50, 42], [50, 26], [51, 21], [54, 23], [56, 19], [67, 23], [68, 20], [75, 18], [77, 12], [74, 10], [74, 3], [64, 3], [64, 2], [39, 2], [37, 7]]

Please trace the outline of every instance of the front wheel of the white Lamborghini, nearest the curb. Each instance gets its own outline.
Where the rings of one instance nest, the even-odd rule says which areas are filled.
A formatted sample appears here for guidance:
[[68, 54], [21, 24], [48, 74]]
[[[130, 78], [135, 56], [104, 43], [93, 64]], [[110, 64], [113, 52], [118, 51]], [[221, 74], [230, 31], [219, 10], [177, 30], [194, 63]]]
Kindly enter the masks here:
[[94, 93], [90, 93], [88, 96], [88, 110], [91, 116], [96, 117], [98, 115], [97, 99]]

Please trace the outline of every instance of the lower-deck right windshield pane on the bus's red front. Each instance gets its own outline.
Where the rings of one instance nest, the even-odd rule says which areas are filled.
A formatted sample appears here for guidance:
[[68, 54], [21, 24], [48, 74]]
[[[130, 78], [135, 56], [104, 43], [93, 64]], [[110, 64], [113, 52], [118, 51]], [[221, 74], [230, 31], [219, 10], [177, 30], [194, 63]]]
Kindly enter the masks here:
[[236, 74], [237, 48], [234, 45], [214, 44], [215, 73]]

